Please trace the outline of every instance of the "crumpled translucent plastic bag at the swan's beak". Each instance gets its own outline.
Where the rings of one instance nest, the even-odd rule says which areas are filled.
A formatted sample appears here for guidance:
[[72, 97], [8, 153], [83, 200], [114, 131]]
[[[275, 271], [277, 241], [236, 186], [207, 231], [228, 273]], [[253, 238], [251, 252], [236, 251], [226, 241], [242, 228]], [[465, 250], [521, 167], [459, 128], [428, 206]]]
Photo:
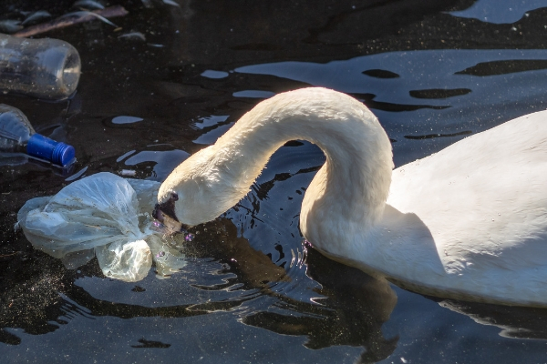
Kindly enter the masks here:
[[[79, 179], [53, 197], [26, 202], [17, 215], [19, 226], [35, 248], [77, 268], [97, 256], [105, 276], [135, 282], [145, 278], [152, 262], [159, 276], [184, 266], [184, 255], [164, 267], [165, 251], [158, 232], [150, 228], [160, 182], [125, 179], [111, 173]], [[171, 269], [172, 268], [172, 269]]]

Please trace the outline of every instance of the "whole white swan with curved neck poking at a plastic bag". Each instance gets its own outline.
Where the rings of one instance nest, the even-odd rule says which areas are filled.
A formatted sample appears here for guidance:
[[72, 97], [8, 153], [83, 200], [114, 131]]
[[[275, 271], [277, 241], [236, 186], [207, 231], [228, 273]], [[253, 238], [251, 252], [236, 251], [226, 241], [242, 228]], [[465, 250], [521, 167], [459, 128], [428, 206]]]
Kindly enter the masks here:
[[387, 134], [361, 102], [286, 92], [176, 167], [153, 216], [173, 229], [220, 216], [294, 139], [325, 153], [300, 229], [326, 257], [422, 294], [547, 307], [547, 111], [394, 170]]

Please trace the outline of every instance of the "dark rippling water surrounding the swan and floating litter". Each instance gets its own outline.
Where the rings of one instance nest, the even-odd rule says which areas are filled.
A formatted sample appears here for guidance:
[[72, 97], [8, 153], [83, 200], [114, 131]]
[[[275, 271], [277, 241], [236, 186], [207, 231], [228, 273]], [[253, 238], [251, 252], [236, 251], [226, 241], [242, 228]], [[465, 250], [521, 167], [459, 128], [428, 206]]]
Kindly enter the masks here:
[[[82, 56], [71, 100], [0, 96], [77, 149], [69, 176], [0, 167], [3, 363], [547, 361], [545, 310], [426, 298], [304, 246], [300, 203], [324, 161], [308, 143], [282, 147], [237, 207], [196, 227], [169, 279], [111, 280], [95, 259], [70, 270], [14, 232], [27, 199], [99, 171], [162, 180], [263, 97], [297, 87], [363, 100], [397, 166], [547, 107], [547, 1], [176, 1], [120, 2], [121, 30], [48, 34]], [[36, 3], [0, 14], [72, 4]], [[131, 32], [145, 40], [119, 37]]]

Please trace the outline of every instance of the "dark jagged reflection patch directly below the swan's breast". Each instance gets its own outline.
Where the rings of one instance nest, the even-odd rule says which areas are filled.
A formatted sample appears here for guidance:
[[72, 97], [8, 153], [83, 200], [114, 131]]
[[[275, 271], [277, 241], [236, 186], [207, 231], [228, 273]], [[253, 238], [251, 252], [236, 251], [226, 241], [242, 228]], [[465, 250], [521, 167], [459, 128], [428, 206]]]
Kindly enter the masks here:
[[335, 345], [364, 347], [359, 362], [386, 359], [397, 347], [398, 338], [384, 338], [382, 324], [397, 303], [386, 280], [371, 278], [356, 268], [307, 250], [306, 274], [323, 286], [316, 292], [325, 297], [322, 306], [280, 297], [284, 313], [262, 311], [243, 323], [284, 335], [305, 335], [309, 349]]

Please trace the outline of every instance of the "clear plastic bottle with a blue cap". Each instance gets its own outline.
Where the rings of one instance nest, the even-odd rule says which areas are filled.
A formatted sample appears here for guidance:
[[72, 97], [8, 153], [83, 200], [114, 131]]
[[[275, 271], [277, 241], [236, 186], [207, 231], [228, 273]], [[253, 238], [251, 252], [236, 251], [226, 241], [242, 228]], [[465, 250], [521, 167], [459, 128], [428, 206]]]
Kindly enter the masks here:
[[0, 104], [0, 153], [25, 153], [65, 167], [75, 160], [74, 147], [37, 134], [18, 108]]

